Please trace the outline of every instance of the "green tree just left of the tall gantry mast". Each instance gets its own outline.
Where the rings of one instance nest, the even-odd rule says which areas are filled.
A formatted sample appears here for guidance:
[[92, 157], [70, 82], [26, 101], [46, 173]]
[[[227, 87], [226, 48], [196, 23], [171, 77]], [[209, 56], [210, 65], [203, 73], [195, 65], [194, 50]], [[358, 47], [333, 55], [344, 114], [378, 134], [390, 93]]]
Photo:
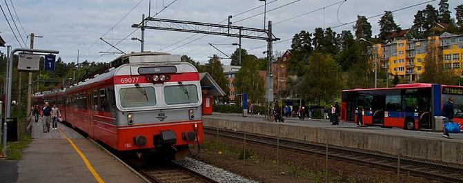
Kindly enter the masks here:
[[248, 99], [253, 104], [264, 102], [264, 79], [259, 77], [257, 57], [246, 55], [242, 64], [234, 80], [236, 93], [248, 93]]

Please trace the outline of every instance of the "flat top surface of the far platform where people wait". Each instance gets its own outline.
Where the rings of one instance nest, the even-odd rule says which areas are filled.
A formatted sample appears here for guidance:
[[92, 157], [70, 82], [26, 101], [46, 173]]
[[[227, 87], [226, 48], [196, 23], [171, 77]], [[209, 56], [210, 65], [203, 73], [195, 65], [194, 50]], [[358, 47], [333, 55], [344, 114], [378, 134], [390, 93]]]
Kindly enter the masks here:
[[[204, 116], [210, 118], [218, 119], [229, 119], [237, 120], [243, 122], [268, 122], [264, 119], [262, 115], [249, 115], [248, 117], [242, 117], [241, 114], [237, 113], [214, 113], [212, 116]], [[409, 137], [422, 137], [422, 138], [431, 138], [431, 139], [442, 139], [446, 141], [453, 142], [462, 142], [463, 143], [463, 133], [452, 133], [452, 139], [445, 139], [442, 137], [442, 133], [430, 132], [430, 131], [406, 131], [402, 128], [382, 128], [380, 126], [368, 126], [368, 127], [358, 127], [355, 123], [352, 122], [339, 122], [339, 125], [331, 125], [329, 120], [325, 119], [304, 119], [300, 121], [296, 117], [285, 117], [285, 124], [291, 125], [300, 125], [300, 126], [311, 126], [319, 128], [337, 128], [346, 131], [364, 131], [368, 133], [380, 133], [386, 135], [397, 135], [397, 136], [409, 136]]]

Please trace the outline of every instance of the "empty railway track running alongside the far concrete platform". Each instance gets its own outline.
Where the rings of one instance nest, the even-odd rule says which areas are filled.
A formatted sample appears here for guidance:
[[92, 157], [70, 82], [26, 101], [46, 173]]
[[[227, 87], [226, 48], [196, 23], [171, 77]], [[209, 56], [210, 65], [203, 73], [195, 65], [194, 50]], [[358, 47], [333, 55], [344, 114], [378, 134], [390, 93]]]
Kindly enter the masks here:
[[[242, 132], [228, 131], [219, 129], [219, 136], [232, 139], [244, 140]], [[217, 135], [217, 128], [204, 127], [204, 133]], [[303, 153], [314, 153], [324, 155], [336, 160], [344, 160], [356, 164], [375, 166], [400, 173], [407, 173], [417, 177], [426, 177], [430, 180], [440, 180], [443, 182], [463, 182], [463, 166], [440, 164], [428, 162], [426, 160], [417, 160], [409, 157], [400, 157], [380, 153], [371, 153], [359, 151], [351, 148], [342, 148], [337, 146], [328, 146], [326, 144], [314, 144], [301, 142], [294, 139], [281, 139], [277, 137], [268, 137], [246, 133], [246, 142], [264, 144], [268, 146], [278, 146], [281, 148], [299, 151]]]

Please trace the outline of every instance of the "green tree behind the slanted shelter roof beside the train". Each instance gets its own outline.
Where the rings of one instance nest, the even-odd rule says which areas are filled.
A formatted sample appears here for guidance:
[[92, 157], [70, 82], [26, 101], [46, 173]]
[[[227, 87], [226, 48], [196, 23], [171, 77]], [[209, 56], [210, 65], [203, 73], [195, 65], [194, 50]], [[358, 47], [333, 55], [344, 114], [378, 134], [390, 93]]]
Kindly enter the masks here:
[[230, 94], [230, 90], [228, 89], [228, 81], [224, 75], [224, 68], [220, 62], [219, 57], [217, 55], [213, 55], [212, 58], [209, 59], [207, 64], [204, 64], [204, 72], [209, 73], [210, 76], [213, 77], [214, 81], [220, 86], [222, 90], [225, 92], [225, 97], [222, 98], [222, 101], [228, 101], [228, 95]]

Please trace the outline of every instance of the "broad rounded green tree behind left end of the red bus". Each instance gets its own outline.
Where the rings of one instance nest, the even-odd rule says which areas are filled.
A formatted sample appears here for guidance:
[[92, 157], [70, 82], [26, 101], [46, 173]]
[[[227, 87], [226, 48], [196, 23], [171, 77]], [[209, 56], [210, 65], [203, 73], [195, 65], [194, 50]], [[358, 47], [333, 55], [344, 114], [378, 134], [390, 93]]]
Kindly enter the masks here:
[[337, 64], [331, 55], [314, 52], [305, 70], [299, 90], [308, 101], [331, 101], [339, 94], [341, 80], [336, 78]]

